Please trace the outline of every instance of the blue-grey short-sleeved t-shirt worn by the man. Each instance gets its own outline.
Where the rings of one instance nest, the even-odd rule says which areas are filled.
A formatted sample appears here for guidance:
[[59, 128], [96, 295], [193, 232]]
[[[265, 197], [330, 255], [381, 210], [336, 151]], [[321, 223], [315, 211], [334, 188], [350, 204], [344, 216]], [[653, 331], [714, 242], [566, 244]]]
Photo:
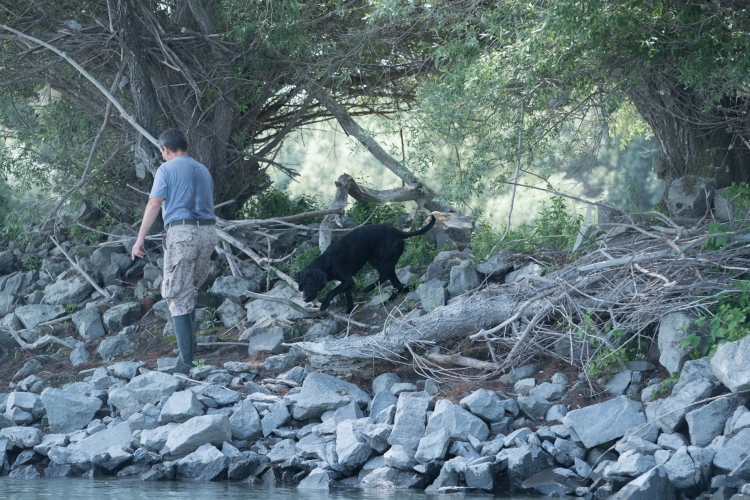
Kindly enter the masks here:
[[208, 169], [189, 156], [162, 163], [150, 198], [164, 198], [164, 224], [173, 220], [213, 220], [214, 181]]

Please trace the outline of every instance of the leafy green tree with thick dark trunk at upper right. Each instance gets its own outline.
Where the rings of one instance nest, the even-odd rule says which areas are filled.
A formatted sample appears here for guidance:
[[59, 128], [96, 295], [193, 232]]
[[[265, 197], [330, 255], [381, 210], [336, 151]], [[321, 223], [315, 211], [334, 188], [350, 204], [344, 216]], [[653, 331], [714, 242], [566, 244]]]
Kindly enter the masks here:
[[503, 0], [445, 12], [434, 19], [452, 36], [430, 48], [444, 71], [421, 87], [413, 131], [422, 168], [442, 169], [457, 196], [516, 166], [545, 178], [586, 165], [612, 127], [638, 131], [639, 117], [667, 185], [688, 174], [750, 181], [744, 2]]

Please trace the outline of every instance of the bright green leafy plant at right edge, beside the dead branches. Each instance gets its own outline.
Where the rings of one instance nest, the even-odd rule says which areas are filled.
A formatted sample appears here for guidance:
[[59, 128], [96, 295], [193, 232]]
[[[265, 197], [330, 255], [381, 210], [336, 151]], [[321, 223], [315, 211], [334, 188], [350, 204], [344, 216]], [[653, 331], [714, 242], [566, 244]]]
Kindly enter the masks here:
[[726, 342], [735, 342], [750, 335], [750, 281], [742, 281], [739, 290], [721, 294], [718, 302], [711, 308], [711, 317], [696, 320], [699, 327], [706, 322], [711, 331], [708, 341], [692, 332], [682, 341], [682, 347], [693, 347], [694, 356], [713, 356], [716, 348]]

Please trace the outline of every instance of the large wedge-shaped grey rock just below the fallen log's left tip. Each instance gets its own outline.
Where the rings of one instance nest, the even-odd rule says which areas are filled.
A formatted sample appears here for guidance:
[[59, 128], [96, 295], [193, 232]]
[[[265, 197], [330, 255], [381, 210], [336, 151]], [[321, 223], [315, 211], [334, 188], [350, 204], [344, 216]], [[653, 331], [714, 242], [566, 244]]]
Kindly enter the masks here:
[[336, 410], [351, 401], [365, 405], [370, 401], [370, 396], [354, 384], [313, 372], [302, 383], [292, 416], [295, 420], [319, 417], [326, 411]]

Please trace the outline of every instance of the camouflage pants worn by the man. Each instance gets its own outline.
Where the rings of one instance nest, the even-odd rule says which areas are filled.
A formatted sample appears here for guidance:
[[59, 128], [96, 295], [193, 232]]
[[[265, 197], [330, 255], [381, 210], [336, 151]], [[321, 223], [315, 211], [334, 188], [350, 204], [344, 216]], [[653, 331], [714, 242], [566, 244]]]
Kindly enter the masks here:
[[194, 291], [206, 281], [218, 239], [213, 226], [175, 226], [164, 238], [161, 294], [172, 316], [189, 314]]

